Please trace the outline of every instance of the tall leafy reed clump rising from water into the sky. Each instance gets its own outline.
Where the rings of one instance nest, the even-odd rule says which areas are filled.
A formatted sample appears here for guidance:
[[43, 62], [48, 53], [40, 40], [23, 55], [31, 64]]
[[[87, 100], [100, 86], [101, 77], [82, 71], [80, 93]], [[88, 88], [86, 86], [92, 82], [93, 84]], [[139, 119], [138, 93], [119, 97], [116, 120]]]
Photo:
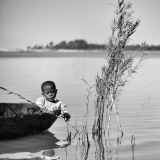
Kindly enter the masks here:
[[[134, 20], [132, 4], [124, 0], [118, 0], [118, 6], [115, 11], [115, 18], [110, 27], [111, 36], [106, 43], [106, 64], [101, 69], [101, 75], [96, 76], [95, 119], [92, 128], [93, 137], [108, 135], [110, 129], [111, 114], [116, 113], [119, 133], [123, 136], [123, 130], [117, 111], [117, 101], [122, 87], [128, 82], [128, 77], [136, 73], [143, 61], [143, 48], [132, 55], [126, 54], [125, 46], [130, 40], [130, 36], [136, 31], [140, 20]], [[135, 64], [134, 59], [137, 53], [141, 56]]]

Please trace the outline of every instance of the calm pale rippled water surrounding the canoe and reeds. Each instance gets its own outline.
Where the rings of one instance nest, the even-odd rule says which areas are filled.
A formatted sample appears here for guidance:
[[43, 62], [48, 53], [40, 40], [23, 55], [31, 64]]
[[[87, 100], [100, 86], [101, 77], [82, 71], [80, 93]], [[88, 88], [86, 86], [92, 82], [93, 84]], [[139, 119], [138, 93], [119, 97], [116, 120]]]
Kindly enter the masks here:
[[[84, 54], [84, 53], [83, 53]], [[98, 53], [97, 53], [98, 54]], [[159, 53], [160, 54], [160, 53]], [[86, 56], [87, 55], [87, 56]], [[71, 113], [71, 124], [83, 124], [86, 111], [86, 88], [82, 81], [94, 84], [95, 75], [105, 63], [103, 54], [91, 56], [50, 56], [50, 57], [16, 57], [0, 58], [0, 86], [7, 88], [35, 102], [41, 96], [40, 86], [46, 80], [53, 80], [58, 88], [57, 98], [68, 106]], [[160, 159], [160, 56], [150, 53], [137, 74], [129, 78], [129, 84], [124, 88], [118, 102], [118, 112], [124, 131], [121, 145], [116, 149], [117, 120], [112, 114], [110, 144], [111, 156], [118, 160], [159, 160]], [[137, 58], [136, 58], [137, 61]], [[95, 144], [91, 129], [94, 120], [95, 88], [90, 97], [89, 105], [89, 149], [88, 160], [95, 159]], [[135, 130], [134, 152], [131, 147], [132, 128], [137, 117], [137, 111], [145, 103]], [[16, 96], [0, 91], [0, 102], [22, 102]], [[75, 131], [69, 127], [72, 135]], [[71, 145], [66, 141], [67, 125], [61, 120], [48, 132], [0, 141], [0, 159], [81, 159], [81, 149], [76, 140]], [[105, 159], [109, 159], [109, 157]]]

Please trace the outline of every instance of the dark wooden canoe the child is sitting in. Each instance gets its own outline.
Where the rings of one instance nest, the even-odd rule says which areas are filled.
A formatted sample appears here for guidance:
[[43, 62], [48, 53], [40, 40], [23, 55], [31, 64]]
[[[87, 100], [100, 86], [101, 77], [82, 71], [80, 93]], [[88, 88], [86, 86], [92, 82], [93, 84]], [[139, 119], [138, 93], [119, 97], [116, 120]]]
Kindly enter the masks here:
[[0, 139], [46, 131], [56, 119], [56, 114], [42, 110], [36, 105], [0, 103]]

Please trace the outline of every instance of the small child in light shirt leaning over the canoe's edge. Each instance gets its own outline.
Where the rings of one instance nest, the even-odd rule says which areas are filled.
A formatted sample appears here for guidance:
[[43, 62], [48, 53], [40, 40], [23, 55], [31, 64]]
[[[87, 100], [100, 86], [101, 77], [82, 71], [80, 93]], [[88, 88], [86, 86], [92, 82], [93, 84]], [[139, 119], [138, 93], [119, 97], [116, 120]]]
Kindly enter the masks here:
[[38, 98], [36, 100], [36, 104], [39, 107], [45, 108], [49, 111], [59, 111], [61, 117], [63, 117], [65, 121], [68, 121], [71, 116], [68, 114], [68, 111], [66, 110], [66, 105], [63, 104], [61, 101], [55, 99], [57, 95], [55, 83], [52, 81], [46, 81], [42, 83], [41, 90], [43, 97]]

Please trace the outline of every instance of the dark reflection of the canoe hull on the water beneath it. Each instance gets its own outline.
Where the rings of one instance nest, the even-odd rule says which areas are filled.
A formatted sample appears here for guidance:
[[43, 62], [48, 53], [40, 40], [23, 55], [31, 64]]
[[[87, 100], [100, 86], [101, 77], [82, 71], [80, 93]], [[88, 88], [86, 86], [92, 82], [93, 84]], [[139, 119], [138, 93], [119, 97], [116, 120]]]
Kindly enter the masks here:
[[64, 148], [69, 145], [69, 143], [64, 142], [63, 145], [59, 146], [56, 144], [58, 141], [60, 140], [57, 139], [54, 136], [54, 134], [52, 134], [49, 131], [22, 138], [1, 140], [0, 155], [8, 153], [13, 154], [19, 152], [36, 153], [42, 150], [53, 150], [56, 148]]

